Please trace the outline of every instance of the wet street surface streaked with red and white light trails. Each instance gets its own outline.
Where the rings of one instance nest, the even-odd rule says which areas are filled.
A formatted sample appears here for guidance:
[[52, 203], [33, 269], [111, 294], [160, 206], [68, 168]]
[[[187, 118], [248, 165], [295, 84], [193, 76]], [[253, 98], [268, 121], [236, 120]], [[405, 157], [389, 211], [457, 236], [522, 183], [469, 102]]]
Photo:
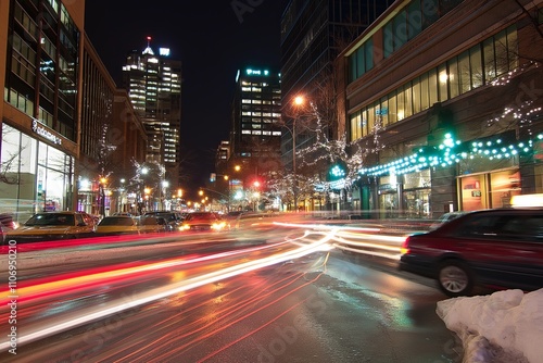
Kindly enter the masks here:
[[391, 260], [330, 250], [321, 230], [258, 226], [230, 237], [254, 235], [254, 243], [182, 238], [185, 248], [169, 243], [180, 243], [178, 255], [71, 265], [54, 278], [43, 277], [51, 267], [33, 268], [42, 277], [22, 281], [17, 327], [20, 338], [36, 338], [0, 359], [460, 361], [462, 345], [435, 314], [444, 296], [431, 280], [397, 272]]

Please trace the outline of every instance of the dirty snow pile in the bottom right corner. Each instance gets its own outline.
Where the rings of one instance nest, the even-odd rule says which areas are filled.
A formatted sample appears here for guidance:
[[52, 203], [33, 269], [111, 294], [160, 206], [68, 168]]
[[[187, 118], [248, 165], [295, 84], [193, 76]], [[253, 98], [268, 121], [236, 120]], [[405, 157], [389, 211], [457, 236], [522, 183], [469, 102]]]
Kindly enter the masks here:
[[543, 289], [439, 301], [437, 313], [462, 339], [464, 362], [543, 362]]

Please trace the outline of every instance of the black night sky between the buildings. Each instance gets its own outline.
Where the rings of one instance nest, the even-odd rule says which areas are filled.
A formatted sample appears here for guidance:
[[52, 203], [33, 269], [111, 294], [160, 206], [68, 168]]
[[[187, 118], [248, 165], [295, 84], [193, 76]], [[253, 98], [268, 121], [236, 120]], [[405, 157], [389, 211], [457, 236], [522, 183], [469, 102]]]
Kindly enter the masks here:
[[86, 1], [85, 29], [117, 86], [127, 53], [143, 50], [148, 36], [156, 53], [169, 48], [172, 59], [182, 62], [184, 189], [204, 185], [219, 142], [228, 140], [237, 70], [279, 70], [280, 16], [288, 2]]

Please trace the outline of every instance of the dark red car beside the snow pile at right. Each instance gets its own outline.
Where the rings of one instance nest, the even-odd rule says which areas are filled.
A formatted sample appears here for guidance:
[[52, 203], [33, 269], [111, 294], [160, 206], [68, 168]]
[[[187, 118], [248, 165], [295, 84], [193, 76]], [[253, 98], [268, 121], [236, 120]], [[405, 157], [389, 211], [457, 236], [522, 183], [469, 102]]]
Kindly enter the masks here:
[[449, 297], [475, 286], [543, 287], [543, 209], [466, 213], [441, 227], [407, 237], [400, 268], [434, 278]]

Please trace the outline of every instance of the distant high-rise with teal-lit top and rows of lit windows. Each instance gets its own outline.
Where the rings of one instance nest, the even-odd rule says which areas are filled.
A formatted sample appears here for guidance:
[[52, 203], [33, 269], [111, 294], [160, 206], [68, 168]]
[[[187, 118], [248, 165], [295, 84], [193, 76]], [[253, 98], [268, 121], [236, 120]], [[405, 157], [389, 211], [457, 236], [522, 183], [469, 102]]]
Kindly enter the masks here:
[[230, 159], [258, 175], [278, 166], [281, 139], [281, 77], [267, 68], [244, 68], [236, 76]]

